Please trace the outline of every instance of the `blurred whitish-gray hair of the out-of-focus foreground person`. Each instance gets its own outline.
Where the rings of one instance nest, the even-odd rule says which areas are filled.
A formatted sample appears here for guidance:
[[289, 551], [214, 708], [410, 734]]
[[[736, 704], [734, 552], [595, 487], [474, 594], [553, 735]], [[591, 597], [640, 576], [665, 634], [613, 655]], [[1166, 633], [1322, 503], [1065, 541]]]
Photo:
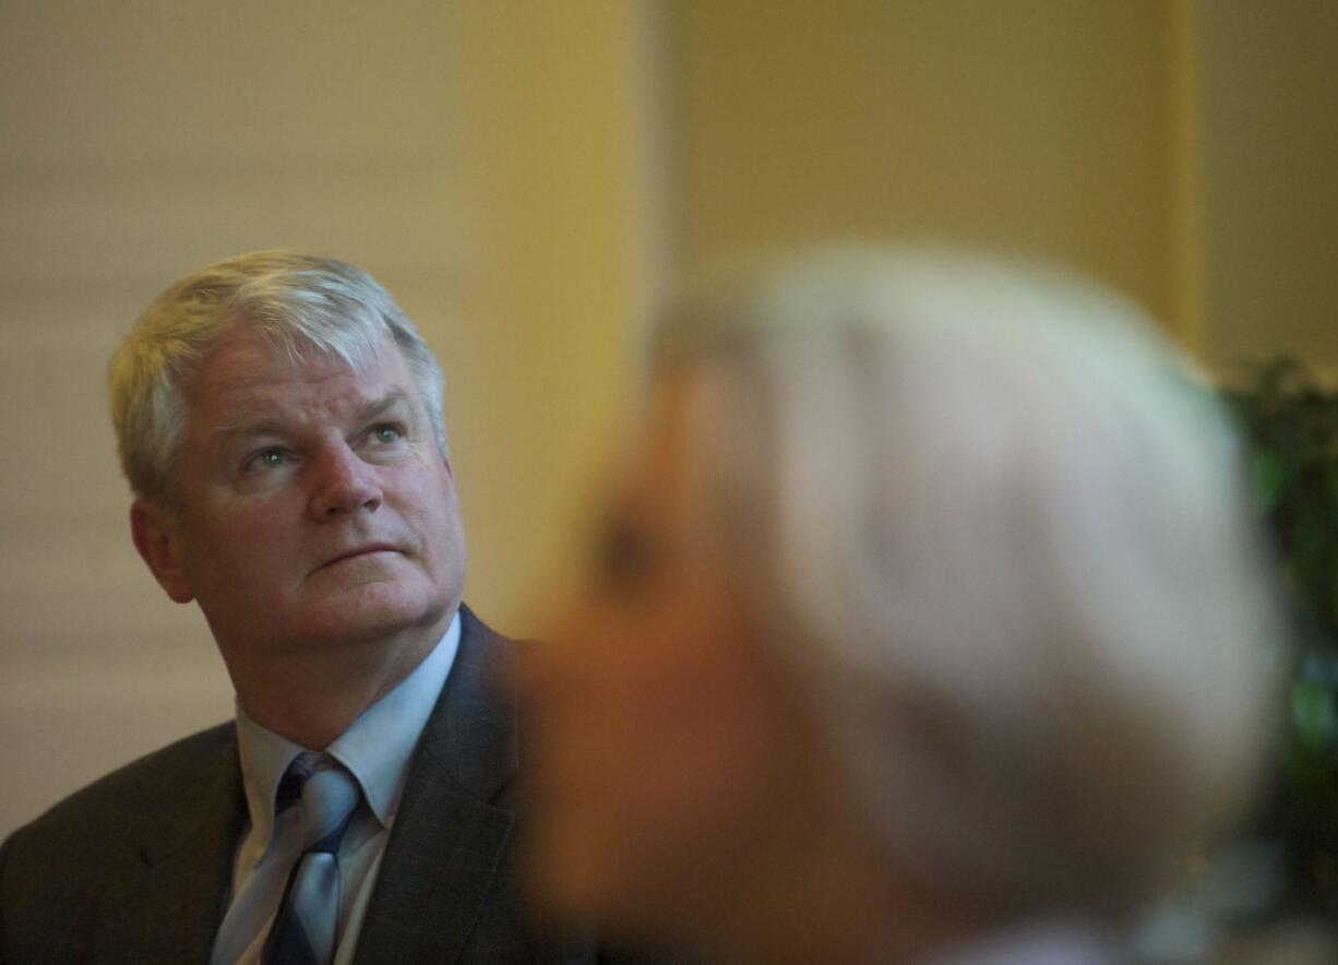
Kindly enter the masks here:
[[1238, 436], [1135, 308], [835, 252], [700, 286], [654, 365], [898, 869], [1116, 911], [1239, 816], [1286, 630]]

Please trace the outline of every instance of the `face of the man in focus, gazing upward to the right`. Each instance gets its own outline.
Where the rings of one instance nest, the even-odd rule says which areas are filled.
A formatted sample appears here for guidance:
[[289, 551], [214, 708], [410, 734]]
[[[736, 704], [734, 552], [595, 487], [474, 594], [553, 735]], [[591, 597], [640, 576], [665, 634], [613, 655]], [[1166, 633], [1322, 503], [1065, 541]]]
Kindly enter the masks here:
[[[396, 636], [435, 642], [464, 578], [450, 463], [397, 347], [351, 369], [293, 363], [246, 325], [186, 392], [179, 515], [136, 545], [178, 602], [199, 602], [223, 657]], [[407, 636], [405, 636], [407, 634]]]

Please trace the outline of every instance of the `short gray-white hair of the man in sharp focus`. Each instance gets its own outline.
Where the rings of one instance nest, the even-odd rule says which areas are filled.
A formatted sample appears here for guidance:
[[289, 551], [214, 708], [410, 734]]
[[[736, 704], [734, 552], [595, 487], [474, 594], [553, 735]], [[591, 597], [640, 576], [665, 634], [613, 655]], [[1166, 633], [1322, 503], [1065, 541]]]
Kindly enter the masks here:
[[447, 456], [442, 368], [372, 276], [334, 258], [270, 250], [209, 265], [149, 305], [111, 360], [111, 418], [122, 470], [142, 499], [177, 505], [183, 389], [215, 340], [246, 324], [297, 360], [317, 351], [360, 365], [388, 332], [404, 355]]

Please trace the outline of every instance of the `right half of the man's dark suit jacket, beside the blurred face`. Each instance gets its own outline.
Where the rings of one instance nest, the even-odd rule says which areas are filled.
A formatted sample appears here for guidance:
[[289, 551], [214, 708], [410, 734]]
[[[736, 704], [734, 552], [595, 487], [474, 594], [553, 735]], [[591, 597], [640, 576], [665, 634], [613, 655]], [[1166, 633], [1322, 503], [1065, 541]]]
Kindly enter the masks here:
[[359, 938], [357, 965], [456, 961], [487, 905], [512, 812], [515, 708], [496, 685], [508, 641], [460, 608], [460, 648], [428, 719]]

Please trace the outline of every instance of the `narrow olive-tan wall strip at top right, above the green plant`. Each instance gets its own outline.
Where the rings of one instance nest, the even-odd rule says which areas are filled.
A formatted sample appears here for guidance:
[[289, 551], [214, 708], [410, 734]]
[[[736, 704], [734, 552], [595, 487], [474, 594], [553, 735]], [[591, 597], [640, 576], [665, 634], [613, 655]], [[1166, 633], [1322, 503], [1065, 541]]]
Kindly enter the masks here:
[[1338, 4], [1199, 7], [1204, 351], [1338, 376]]

